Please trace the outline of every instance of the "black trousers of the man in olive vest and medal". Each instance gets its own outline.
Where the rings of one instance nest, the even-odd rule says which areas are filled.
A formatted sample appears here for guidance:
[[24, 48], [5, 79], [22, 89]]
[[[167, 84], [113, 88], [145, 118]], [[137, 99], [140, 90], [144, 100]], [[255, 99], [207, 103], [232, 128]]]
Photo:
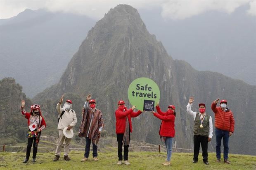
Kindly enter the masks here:
[[206, 136], [196, 136], [194, 135], [194, 161], [198, 161], [198, 154], [200, 149], [200, 144], [203, 151], [203, 161], [208, 161], [208, 137]]

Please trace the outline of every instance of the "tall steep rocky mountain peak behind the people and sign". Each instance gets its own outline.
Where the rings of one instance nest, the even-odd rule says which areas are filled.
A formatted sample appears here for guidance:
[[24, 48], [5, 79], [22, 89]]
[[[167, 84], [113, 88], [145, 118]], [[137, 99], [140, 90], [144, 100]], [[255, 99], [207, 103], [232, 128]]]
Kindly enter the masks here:
[[[193, 146], [193, 118], [186, 113], [189, 96], [196, 99], [193, 110], [197, 110], [197, 103], [205, 102], [207, 113], [213, 118], [211, 102], [220, 97], [229, 101], [236, 120], [236, 132], [230, 138], [230, 152], [255, 153], [252, 148], [238, 146], [243, 142], [253, 144], [250, 137], [255, 135], [251, 129], [255, 129], [256, 87], [221, 74], [199, 72], [186, 62], [173, 60], [161, 42], [149, 34], [137, 10], [129, 5], [110, 9], [97, 22], [69, 62], [59, 83], [38, 94], [34, 100], [57, 101], [66, 92], [85, 99], [86, 94], [91, 93], [104, 115], [105, 129], [114, 134], [117, 102], [123, 99], [128, 103], [128, 86], [139, 77], [151, 78], [159, 85], [162, 110], [166, 110], [170, 103], [177, 107], [175, 147], [191, 149]], [[160, 123], [151, 113], [143, 113], [133, 119], [132, 138], [159, 143]], [[211, 151], [215, 149], [215, 137], [209, 148]]]

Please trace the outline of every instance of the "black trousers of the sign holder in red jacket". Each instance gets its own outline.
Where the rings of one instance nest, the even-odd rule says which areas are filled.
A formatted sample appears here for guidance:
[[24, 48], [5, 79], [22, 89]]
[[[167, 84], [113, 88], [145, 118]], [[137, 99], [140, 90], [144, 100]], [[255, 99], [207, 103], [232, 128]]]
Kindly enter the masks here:
[[[118, 160], [119, 161], [128, 161], [128, 152], [129, 152], [129, 145], [123, 145], [123, 133], [121, 134], [116, 134], [116, 139], [118, 142]], [[130, 140], [130, 135], [129, 135], [129, 140]], [[122, 154], [123, 152], [123, 154]]]

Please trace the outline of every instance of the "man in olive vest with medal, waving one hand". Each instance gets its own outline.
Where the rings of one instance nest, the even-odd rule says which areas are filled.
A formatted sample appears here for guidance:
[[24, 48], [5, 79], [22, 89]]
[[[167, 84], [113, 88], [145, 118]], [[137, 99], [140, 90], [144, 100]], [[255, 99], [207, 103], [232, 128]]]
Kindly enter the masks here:
[[193, 163], [197, 163], [200, 144], [203, 150], [204, 164], [208, 163], [208, 142], [211, 141], [213, 136], [213, 124], [211, 116], [205, 113], [206, 107], [204, 103], [199, 103], [199, 113], [191, 110], [194, 97], [190, 97], [187, 104], [187, 113], [194, 117], [194, 157]]

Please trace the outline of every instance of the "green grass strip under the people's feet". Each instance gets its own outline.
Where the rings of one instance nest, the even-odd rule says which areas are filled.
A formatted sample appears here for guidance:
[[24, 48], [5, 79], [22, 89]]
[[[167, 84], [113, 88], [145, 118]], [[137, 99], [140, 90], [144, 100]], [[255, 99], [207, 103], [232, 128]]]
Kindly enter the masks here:
[[[62, 153], [63, 154], [63, 153]], [[201, 153], [200, 153], [201, 154]], [[32, 157], [32, 152], [31, 152]], [[171, 158], [171, 166], [163, 167], [162, 162], [166, 159], [166, 153], [157, 152], [130, 152], [129, 162], [127, 165], [116, 165], [116, 152], [99, 152], [98, 158], [100, 161], [92, 161], [92, 153], [90, 153], [89, 161], [81, 162], [83, 152], [71, 151], [69, 157], [71, 161], [63, 161], [63, 157], [59, 161], [53, 162], [55, 157], [54, 152], [38, 153], [37, 162], [32, 163], [31, 159], [28, 163], [22, 163], [25, 158], [25, 153], [10, 153], [0, 152], [0, 169], [5, 170], [82, 170], [82, 169], [97, 169], [97, 170], [149, 170], [149, 169], [175, 169], [175, 170], [255, 170], [256, 156], [229, 154], [231, 164], [223, 162], [216, 163], [216, 155], [209, 153], [210, 165], [204, 165], [201, 155], [196, 164], [192, 163], [192, 153], [173, 153]]]

